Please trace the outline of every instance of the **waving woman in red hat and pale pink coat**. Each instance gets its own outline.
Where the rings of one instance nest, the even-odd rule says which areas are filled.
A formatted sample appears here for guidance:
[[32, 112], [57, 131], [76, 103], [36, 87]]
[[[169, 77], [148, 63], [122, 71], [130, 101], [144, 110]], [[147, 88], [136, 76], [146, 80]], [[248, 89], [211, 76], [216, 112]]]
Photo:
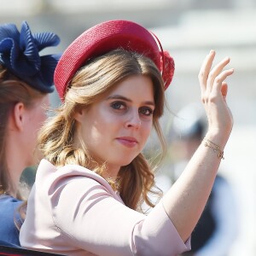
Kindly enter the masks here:
[[[61, 57], [63, 101], [39, 135], [44, 153], [20, 230], [24, 247], [67, 255], [177, 255], [201, 216], [232, 129], [225, 102], [233, 69], [214, 51], [201, 72], [209, 129], [177, 183], [154, 207], [154, 173], [142, 150], [172, 81], [172, 57], [143, 26], [110, 20], [85, 31]], [[164, 150], [163, 150], [164, 151]], [[145, 201], [154, 207], [138, 212]]]

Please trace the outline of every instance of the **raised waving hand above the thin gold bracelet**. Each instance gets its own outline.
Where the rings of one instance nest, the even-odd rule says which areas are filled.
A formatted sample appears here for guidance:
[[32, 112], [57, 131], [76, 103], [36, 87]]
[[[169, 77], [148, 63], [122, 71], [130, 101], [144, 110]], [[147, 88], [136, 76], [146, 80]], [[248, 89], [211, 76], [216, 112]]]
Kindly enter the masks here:
[[224, 80], [234, 73], [234, 69], [224, 70], [230, 62], [229, 57], [212, 67], [214, 57], [215, 51], [211, 50], [201, 65], [198, 79], [201, 85], [201, 101], [207, 112], [207, 133], [212, 136], [218, 134], [219, 139], [225, 141], [230, 136], [233, 118], [226, 102], [228, 84]]

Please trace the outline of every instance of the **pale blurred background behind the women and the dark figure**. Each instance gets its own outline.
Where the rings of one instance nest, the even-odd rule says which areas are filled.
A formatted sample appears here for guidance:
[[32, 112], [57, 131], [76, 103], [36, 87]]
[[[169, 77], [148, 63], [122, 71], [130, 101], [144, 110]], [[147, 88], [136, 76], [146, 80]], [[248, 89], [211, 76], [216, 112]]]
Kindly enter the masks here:
[[[61, 37], [59, 52], [90, 26], [116, 19], [146, 26], [176, 62], [174, 79], [166, 91], [171, 111], [163, 118], [170, 143], [160, 171], [166, 181], [170, 178], [165, 186], [172, 184], [180, 157], [174, 148], [173, 119], [185, 106], [200, 102], [197, 74], [201, 61], [210, 49], [217, 52], [215, 61], [230, 56], [229, 67], [235, 73], [227, 79], [227, 101], [235, 123], [219, 172], [230, 183], [236, 201], [236, 237], [229, 252], [221, 255], [256, 255], [256, 1], [0, 0], [1, 24], [15, 23], [20, 29], [20, 22], [26, 20], [32, 32], [55, 32]], [[56, 94], [51, 102], [59, 104]]]

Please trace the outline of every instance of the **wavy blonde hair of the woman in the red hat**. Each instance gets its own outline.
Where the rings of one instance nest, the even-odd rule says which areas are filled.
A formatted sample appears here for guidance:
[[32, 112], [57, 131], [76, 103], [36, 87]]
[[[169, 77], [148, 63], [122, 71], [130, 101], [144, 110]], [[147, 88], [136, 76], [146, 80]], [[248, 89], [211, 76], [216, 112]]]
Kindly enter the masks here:
[[[162, 153], [166, 152], [166, 142], [159, 124], [165, 105], [164, 83], [160, 71], [153, 61], [143, 55], [115, 49], [88, 61], [79, 69], [69, 84], [65, 102], [39, 132], [39, 148], [49, 162], [55, 166], [77, 164], [88, 167], [91, 159], [86, 150], [86, 142], [80, 139], [79, 147], [74, 146], [74, 135], [77, 132], [74, 113], [79, 108], [89, 108], [93, 102], [100, 100], [116, 84], [131, 75], [147, 76], [153, 81], [156, 106], [153, 125], [160, 139]], [[93, 171], [102, 175], [104, 165], [96, 166]], [[148, 198], [148, 192], [158, 194], [153, 187], [154, 172], [143, 154], [138, 154], [128, 166], [120, 168], [118, 189], [127, 207], [137, 210], [142, 201], [154, 207]]]

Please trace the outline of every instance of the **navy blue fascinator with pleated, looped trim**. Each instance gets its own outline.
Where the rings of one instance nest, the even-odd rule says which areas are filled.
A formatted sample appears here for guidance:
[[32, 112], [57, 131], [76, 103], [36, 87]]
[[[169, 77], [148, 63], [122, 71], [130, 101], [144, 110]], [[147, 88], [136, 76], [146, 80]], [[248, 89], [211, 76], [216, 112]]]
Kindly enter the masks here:
[[20, 32], [15, 24], [0, 26], [0, 64], [32, 88], [54, 90], [54, 72], [61, 55], [39, 55], [39, 51], [60, 43], [52, 32], [33, 33], [26, 21]]

